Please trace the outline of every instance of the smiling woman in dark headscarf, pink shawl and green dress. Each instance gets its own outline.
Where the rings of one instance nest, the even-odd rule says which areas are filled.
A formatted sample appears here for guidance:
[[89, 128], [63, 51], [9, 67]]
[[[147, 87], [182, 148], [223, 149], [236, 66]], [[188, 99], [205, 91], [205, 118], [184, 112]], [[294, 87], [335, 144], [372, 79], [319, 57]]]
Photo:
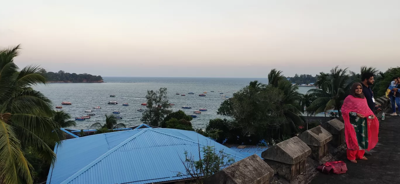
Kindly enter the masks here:
[[344, 99], [342, 116], [347, 158], [354, 163], [356, 159], [367, 160], [364, 152], [378, 142], [379, 122], [368, 107], [360, 83], [354, 83], [350, 95]]

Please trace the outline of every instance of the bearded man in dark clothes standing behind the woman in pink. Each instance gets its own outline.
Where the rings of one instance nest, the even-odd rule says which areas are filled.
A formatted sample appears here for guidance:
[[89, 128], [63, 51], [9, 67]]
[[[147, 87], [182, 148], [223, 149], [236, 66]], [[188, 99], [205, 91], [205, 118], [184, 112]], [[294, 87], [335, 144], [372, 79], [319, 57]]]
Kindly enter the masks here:
[[[368, 107], [373, 113], [375, 113], [375, 99], [374, 93], [372, 93], [371, 85], [374, 84], [374, 74], [365, 72], [361, 76], [362, 93], [364, 93], [365, 99], [367, 100]], [[364, 155], [371, 155], [370, 152], [365, 152]]]

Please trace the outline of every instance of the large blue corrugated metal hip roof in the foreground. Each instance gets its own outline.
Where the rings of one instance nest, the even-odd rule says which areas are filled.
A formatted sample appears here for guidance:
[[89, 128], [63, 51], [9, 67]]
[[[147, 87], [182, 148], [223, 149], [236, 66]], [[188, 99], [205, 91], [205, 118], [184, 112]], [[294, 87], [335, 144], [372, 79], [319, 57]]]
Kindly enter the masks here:
[[241, 160], [246, 156], [194, 131], [142, 128], [64, 140], [47, 184], [147, 184], [189, 176], [181, 162], [184, 152], [198, 155], [200, 146]]

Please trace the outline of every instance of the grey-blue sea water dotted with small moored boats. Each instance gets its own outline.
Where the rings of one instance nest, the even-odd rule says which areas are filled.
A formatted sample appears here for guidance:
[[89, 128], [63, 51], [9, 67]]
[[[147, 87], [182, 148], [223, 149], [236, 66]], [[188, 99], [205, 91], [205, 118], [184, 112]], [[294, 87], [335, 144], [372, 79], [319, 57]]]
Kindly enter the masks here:
[[[145, 108], [141, 103], [146, 103], [147, 90], [158, 90], [160, 87], [168, 89], [168, 99], [171, 110], [183, 110], [186, 114], [194, 114], [200, 108], [206, 108], [201, 114], [192, 120], [194, 129], [205, 128], [208, 121], [214, 118], [223, 118], [216, 111], [224, 101], [218, 91], [222, 91], [226, 97], [232, 97], [235, 90], [240, 90], [248, 85], [250, 81], [258, 80], [268, 83], [267, 78], [189, 78], [189, 77], [103, 77], [106, 83], [49, 83], [38, 85], [34, 89], [41, 91], [52, 100], [54, 107], [61, 105], [62, 101], [69, 101], [72, 105], [62, 105], [62, 111], [79, 117], [87, 115], [85, 110], [92, 110], [94, 116], [84, 121], [76, 121], [76, 127], [72, 129], [88, 129], [93, 123], [105, 123], [105, 114], [112, 111], [120, 111], [122, 119], [117, 120], [127, 127], [141, 124], [140, 118]], [[300, 93], [306, 93], [311, 87], [299, 87]], [[204, 91], [205, 97], [198, 96]], [[214, 92], [210, 92], [214, 91]], [[189, 95], [193, 92], [194, 95]], [[186, 96], [175, 95], [175, 93]], [[110, 97], [116, 95], [116, 97]], [[117, 105], [108, 105], [109, 101], [117, 101]], [[129, 106], [123, 106], [128, 103]], [[102, 109], [92, 109], [100, 106]], [[192, 109], [182, 109], [182, 106], [190, 106]], [[60, 110], [60, 109], [59, 109]]]

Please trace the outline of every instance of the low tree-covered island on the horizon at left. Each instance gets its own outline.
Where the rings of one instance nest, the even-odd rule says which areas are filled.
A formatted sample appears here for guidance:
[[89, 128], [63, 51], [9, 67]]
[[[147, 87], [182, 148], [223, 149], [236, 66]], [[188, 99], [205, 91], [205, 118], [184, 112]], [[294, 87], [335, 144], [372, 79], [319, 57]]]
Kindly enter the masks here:
[[62, 70], [46, 72], [45, 77], [48, 83], [102, 83], [103, 78], [100, 75], [90, 75], [87, 73], [66, 73]]

